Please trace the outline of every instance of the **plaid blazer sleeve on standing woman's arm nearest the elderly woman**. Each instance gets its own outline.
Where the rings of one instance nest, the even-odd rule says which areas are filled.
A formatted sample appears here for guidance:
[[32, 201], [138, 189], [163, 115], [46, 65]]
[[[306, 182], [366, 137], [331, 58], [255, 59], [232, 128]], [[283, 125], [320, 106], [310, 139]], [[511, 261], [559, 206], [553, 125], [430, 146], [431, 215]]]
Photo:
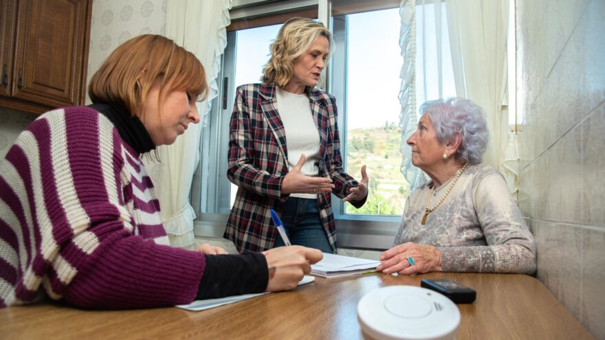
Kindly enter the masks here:
[[[329, 119], [329, 134], [326, 147], [326, 159], [329, 164], [330, 177], [336, 186], [332, 191], [333, 194], [343, 199], [349, 194], [349, 189], [355, 188], [359, 182], [351, 177], [342, 168], [342, 156], [340, 155], [340, 135], [338, 133], [338, 109], [336, 108], [336, 99], [329, 95], [328, 119]], [[361, 201], [350, 201], [354, 207], [362, 207], [366, 203], [367, 196]]]

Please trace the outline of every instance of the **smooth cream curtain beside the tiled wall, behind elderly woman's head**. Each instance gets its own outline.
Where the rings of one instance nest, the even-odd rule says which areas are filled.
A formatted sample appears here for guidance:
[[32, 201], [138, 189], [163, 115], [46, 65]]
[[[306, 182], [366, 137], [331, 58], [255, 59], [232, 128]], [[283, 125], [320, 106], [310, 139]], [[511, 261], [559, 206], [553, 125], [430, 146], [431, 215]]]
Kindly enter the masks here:
[[[446, 0], [456, 93], [487, 112], [489, 144], [483, 163], [500, 169], [508, 117], [505, 95], [508, 0]], [[504, 144], [505, 146], [505, 144]]]

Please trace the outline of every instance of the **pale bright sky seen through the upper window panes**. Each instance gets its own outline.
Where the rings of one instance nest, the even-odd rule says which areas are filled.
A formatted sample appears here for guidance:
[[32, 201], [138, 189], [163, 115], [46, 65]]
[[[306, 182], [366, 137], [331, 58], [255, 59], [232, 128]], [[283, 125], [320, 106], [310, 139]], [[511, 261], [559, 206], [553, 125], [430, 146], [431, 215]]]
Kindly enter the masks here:
[[[426, 16], [432, 18], [432, 5], [426, 6]], [[423, 80], [421, 30], [417, 30], [416, 95], [417, 103], [437, 99], [436, 47], [434, 47], [434, 23], [421, 22], [417, 16], [417, 27], [425, 27], [427, 38], [426, 62], [427, 84]], [[385, 122], [399, 124], [401, 104], [401, 66], [403, 57], [399, 47], [401, 27], [399, 9], [380, 10], [349, 15], [349, 54], [347, 67], [347, 126], [348, 128], [382, 127]], [[443, 27], [447, 27], [445, 15]], [[263, 65], [270, 55], [270, 43], [281, 25], [241, 30], [237, 33], [236, 76], [234, 86], [260, 82]], [[444, 60], [449, 60], [448, 39], [443, 39]], [[443, 63], [445, 78], [453, 80], [452, 65]], [[426, 90], [426, 92], [425, 92]], [[444, 96], [455, 95], [452, 81], [445, 82]], [[419, 106], [419, 105], [418, 105]], [[342, 108], [339, 108], [342, 110]]]

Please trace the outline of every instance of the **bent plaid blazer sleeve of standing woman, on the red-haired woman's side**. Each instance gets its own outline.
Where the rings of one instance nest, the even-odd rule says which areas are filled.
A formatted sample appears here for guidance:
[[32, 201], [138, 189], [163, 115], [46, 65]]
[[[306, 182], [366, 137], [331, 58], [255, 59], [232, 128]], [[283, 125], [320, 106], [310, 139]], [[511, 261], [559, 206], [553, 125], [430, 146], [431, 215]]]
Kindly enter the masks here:
[[261, 108], [250, 108], [248, 103], [254, 102], [253, 98], [248, 98], [250, 92], [245, 87], [237, 89], [230, 122], [227, 178], [235, 185], [261, 196], [285, 199], [288, 195], [281, 193], [283, 176], [275, 176], [254, 166], [255, 141], [251, 134], [253, 122], [250, 113]]

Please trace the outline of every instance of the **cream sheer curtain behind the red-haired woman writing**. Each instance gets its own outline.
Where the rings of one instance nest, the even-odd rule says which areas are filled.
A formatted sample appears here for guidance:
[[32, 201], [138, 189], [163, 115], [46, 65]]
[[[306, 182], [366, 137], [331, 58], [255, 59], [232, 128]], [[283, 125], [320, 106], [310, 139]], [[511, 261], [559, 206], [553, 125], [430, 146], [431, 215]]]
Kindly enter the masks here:
[[[201, 124], [206, 122], [210, 102], [216, 97], [221, 54], [227, 43], [231, 0], [169, 0], [166, 5], [166, 36], [192, 52], [206, 70], [210, 93], [198, 104]], [[195, 212], [189, 203], [193, 173], [199, 161], [200, 124], [190, 124], [170, 146], [158, 148], [159, 162], [151, 161], [150, 175], [162, 209], [162, 223], [170, 245], [193, 249]]]

